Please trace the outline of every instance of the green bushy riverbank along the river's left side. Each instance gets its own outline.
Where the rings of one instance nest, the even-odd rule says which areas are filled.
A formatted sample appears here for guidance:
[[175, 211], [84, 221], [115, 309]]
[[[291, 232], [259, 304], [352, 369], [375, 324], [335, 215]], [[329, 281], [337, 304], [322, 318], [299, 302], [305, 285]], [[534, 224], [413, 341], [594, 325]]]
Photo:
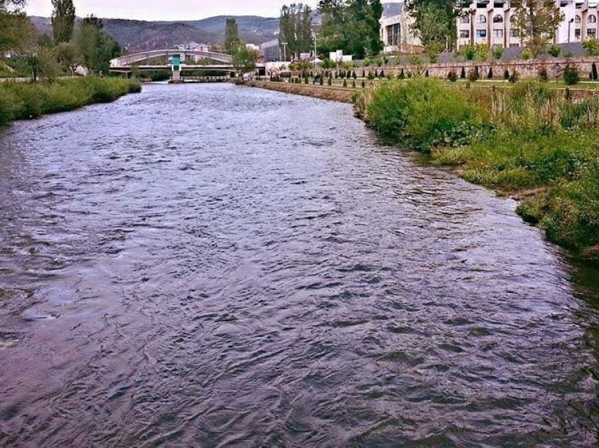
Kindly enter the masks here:
[[137, 80], [117, 77], [80, 77], [49, 85], [6, 82], [0, 84], [0, 124], [108, 103], [140, 90]]

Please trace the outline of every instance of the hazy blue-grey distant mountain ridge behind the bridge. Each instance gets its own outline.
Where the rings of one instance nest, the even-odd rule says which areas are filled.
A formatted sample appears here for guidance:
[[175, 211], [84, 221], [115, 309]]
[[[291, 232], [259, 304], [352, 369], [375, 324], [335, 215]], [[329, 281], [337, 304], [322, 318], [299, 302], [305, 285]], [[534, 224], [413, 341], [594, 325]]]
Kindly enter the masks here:
[[[403, 4], [383, 4], [383, 15], [399, 14]], [[235, 18], [241, 39], [249, 44], [262, 44], [278, 37], [278, 18], [264, 18], [255, 15], [217, 17], [203, 20], [180, 20], [172, 22], [148, 22], [144, 20], [102, 19], [106, 32], [114, 37], [121, 46], [130, 51], [161, 49], [187, 42], [200, 44], [222, 44], [225, 37], [225, 23]], [[80, 20], [80, 19], [78, 19]], [[52, 35], [50, 18], [32, 17], [31, 21], [40, 34]], [[319, 21], [319, 15], [314, 15]]]

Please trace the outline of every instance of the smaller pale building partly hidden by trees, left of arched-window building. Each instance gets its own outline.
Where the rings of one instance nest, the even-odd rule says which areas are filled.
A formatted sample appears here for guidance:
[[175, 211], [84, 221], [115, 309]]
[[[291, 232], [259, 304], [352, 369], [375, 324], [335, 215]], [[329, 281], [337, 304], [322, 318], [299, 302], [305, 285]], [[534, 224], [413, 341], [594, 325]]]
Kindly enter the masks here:
[[417, 53], [422, 51], [420, 39], [412, 32], [414, 20], [400, 4], [399, 13], [381, 18], [381, 41], [383, 51], [392, 53]]

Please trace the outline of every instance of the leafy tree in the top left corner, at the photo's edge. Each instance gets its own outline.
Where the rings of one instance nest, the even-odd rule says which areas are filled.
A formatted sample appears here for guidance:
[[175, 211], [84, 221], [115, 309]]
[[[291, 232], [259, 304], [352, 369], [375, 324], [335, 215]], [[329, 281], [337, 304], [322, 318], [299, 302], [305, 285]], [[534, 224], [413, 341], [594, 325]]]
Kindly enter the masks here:
[[21, 11], [25, 0], [0, 0], [0, 51], [24, 49], [32, 25]]

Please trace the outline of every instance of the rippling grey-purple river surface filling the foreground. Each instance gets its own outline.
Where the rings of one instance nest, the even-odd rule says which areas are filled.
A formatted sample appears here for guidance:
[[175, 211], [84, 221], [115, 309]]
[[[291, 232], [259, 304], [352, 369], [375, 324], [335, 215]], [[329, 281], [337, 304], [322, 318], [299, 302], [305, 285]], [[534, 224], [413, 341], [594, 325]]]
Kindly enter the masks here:
[[593, 444], [595, 270], [352, 108], [149, 85], [0, 135], [0, 445]]

